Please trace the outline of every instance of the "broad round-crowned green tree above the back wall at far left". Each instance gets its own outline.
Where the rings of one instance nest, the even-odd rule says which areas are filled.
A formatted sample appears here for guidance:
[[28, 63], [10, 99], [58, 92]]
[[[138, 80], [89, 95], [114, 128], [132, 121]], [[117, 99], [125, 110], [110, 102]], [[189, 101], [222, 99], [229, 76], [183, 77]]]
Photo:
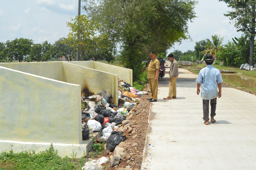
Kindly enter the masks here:
[[24, 57], [29, 55], [32, 44], [33, 41], [26, 38], [16, 38], [11, 42], [6, 42], [8, 57], [15, 57], [20, 62]]

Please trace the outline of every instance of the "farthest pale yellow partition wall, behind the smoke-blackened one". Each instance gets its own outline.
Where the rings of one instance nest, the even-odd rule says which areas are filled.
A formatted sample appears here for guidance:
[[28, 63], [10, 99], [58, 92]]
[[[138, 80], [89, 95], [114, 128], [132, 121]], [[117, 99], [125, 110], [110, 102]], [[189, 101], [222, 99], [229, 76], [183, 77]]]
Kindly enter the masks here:
[[128, 68], [118, 67], [115, 65], [109, 65], [102, 62], [95, 61], [72, 61], [69, 63], [73, 63], [76, 65], [81, 65], [88, 68], [93, 68], [99, 71], [105, 71], [111, 74], [117, 74], [119, 79], [123, 79], [125, 82], [129, 83], [131, 86], [133, 84], [132, 80], [132, 70]]

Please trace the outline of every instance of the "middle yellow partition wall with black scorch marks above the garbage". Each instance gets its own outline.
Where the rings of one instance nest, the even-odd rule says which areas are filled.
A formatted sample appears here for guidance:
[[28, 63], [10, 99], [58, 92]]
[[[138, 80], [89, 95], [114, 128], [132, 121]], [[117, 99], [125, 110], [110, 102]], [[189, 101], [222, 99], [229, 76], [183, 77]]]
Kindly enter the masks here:
[[87, 68], [73, 62], [63, 62], [64, 78], [68, 83], [81, 85], [81, 94], [112, 97], [118, 104], [118, 77], [104, 71]]

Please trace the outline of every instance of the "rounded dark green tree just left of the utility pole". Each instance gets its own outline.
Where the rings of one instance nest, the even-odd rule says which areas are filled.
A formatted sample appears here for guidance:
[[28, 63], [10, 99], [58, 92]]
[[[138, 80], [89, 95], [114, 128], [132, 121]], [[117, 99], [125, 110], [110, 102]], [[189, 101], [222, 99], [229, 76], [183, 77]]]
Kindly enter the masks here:
[[66, 38], [62, 37], [55, 41], [50, 49], [51, 56], [54, 58], [65, 57], [67, 61], [72, 61], [76, 58], [76, 49], [71, 45], [72, 41], [65, 41]]

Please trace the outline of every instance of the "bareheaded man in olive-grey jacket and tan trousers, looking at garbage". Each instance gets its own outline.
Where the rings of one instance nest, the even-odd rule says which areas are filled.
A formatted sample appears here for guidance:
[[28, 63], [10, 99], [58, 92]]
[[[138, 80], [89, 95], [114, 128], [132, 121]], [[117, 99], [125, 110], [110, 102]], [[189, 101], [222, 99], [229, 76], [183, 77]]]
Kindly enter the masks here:
[[163, 99], [166, 99], [166, 100], [177, 98], [176, 97], [176, 80], [177, 80], [178, 75], [179, 75], [178, 63], [174, 59], [173, 54], [169, 54], [168, 58], [171, 62], [171, 66], [170, 66], [170, 71], [169, 71], [169, 94], [168, 94], [168, 97], [163, 98]]

